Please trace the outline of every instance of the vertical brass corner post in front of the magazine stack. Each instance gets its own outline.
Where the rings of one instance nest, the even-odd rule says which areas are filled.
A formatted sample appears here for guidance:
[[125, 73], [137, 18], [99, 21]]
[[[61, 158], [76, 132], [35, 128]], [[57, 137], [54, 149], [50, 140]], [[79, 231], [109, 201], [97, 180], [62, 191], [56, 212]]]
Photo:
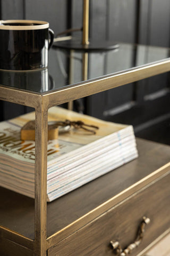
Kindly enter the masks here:
[[44, 109], [44, 106], [37, 108], [35, 162], [35, 254], [41, 256], [46, 256], [47, 250], [47, 119], [48, 110]]

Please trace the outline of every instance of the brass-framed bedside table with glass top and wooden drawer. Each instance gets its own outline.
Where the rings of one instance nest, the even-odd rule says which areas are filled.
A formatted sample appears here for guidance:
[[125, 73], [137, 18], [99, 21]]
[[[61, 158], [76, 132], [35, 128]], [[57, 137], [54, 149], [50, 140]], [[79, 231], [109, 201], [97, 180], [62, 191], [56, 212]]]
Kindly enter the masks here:
[[[145, 51], [147, 62], [142, 58]], [[131, 60], [134, 52], [138, 54], [136, 66], [133, 61], [124, 61], [125, 54]], [[49, 53], [48, 69], [0, 71], [0, 99], [36, 111], [35, 200], [0, 188], [1, 255], [123, 256], [130, 251], [132, 255], [144, 255], [168, 234], [170, 147], [156, 142], [137, 139], [139, 158], [46, 203], [48, 109], [165, 73], [170, 70], [168, 52], [159, 47], [120, 43], [118, 49], [107, 52], [111, 58], [105, 74], [89, 80], [87, 63], [91, 53], [77, 53], [84, 79], [77, 76], [75, 81], [71, 74], [70, 79], [62, 75], [73, 52], [55, 49]], [[118, 65], [115, 56], [122, 58]], [[142, 241], [137, 237], [139, 227]], [[129, 251], [121, 252], [120, 246]]]

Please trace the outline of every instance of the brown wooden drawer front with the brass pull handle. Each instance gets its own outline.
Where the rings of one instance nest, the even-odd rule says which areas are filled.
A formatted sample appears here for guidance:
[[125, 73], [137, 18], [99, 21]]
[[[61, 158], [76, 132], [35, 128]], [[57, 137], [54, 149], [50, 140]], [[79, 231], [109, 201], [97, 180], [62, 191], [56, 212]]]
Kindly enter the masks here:
[[150, 218], [143, 241], [131, 255], [137, 255], [170, 227], [170, 174], [126, 199], [77, 233], [48, 250], [49, 256], [115, 255], [111, 240], [123, 249], [134, 242], [142, 217]]

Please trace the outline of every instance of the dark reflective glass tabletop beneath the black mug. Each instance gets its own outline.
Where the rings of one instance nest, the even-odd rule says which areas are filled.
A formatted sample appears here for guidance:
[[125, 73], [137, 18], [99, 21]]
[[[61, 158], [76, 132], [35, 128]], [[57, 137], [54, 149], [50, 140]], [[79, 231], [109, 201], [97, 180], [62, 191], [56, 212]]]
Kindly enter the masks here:
[[118, 43], [114, 50], [89, 52], [53, 47], [48, 53], [48, 68], [0, 70], [0, 84], [43, 93], [166, 58], [168, 48], [128, 43]]

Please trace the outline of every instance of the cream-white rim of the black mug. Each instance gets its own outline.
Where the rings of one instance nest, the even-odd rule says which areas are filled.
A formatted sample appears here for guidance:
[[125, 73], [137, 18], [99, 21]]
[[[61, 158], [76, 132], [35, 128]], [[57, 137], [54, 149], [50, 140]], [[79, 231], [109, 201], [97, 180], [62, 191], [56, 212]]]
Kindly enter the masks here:
[[[3, 25], [5, 23], [36, 23], [32, 26], [12, 26], [12, 25]], [[44, 29], [49, 28], [49, 23], [46, 21], [40, 20], [0, 20], [0, 29], [5, 30], [35, 30], [35, 29]]]

